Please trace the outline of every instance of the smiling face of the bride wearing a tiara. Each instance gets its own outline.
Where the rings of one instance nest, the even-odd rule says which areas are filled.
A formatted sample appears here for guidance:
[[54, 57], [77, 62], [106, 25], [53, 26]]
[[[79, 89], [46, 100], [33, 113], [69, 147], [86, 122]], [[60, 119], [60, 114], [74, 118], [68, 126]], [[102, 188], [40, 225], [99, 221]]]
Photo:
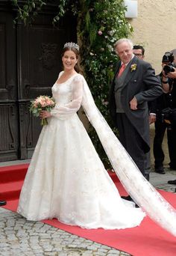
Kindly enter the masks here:
[[78, 59], [76, 58], [75, 52], [66, 51], [62, 57], [64, 70], [73, 70]]

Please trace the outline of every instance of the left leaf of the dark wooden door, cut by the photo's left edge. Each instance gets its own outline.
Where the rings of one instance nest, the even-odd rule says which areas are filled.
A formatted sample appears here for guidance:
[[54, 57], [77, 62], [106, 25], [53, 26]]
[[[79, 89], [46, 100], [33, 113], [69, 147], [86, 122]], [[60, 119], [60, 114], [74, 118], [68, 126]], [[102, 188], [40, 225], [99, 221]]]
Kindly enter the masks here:
[[0, 6], [0, 162], [18, 159], [16, 32], [12, 13]]

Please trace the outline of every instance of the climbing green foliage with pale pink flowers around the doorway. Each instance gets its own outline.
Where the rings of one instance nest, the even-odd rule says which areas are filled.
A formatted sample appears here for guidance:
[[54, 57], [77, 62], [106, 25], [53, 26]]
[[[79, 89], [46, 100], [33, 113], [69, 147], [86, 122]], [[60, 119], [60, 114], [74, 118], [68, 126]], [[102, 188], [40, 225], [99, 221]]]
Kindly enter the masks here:
[[[17, 1], [13, 1], [17, 5]], [[96, 106], [108, 124], [111, 124], [108, 95], [114, 65], [117, 61], [113, 44], [119, 38], [128, 37], [132, 31], [131, 25], [125, 19], [124, 1], [60, 0], [57, 2], [58, 14], [54, 17], [54, 22], [57, 22], [67, 10], [71, 10], [78, 16], [78, 43], [81, 46], [81, 65], [84, 68], [84, 76]], [[47, 0], [28, 0], [28, 6], [19, 8], [19, 18], [26, 22], [32, 10], [37, 11], [37, 7], [40, 10], [44, 4], [47, 4]], [[89, 135], [104, 165], [107, 168], [110, 167], [95, 130], [90, 128]]]

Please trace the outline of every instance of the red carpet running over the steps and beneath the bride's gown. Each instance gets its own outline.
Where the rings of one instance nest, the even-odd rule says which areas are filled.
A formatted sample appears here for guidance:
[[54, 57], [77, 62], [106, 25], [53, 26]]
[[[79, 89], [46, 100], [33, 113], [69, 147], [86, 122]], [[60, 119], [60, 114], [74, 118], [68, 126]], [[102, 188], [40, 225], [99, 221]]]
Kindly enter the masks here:
[[[16, 165], [0, 168], [0, 199], [7, 200], [4, 207], [16, 211], [19, 192], [25, 177], [28, 165]], [[116, 174], [110, 174], [120, 194], [125, 195], [125, 190], [119, 183]], [[174, 207], [176, 207], [176, 195], [170, 192], [160, 191]], [[175, 220], [176, 221], [176, 220]], [[175, 256], [176, 237], [160, 228], [151, 219], [145, 217], [142, 224], [136, 228], [125, 230], [105, 231], [103, 229], [87, 230], [75, 226], [63, 225], [56, 219], [43, 221], [48, 225], [60, 228], [63, 231], [84, 237], [97, 243], [111, 246], [120, 251], [128, 252], [133, 256]]]

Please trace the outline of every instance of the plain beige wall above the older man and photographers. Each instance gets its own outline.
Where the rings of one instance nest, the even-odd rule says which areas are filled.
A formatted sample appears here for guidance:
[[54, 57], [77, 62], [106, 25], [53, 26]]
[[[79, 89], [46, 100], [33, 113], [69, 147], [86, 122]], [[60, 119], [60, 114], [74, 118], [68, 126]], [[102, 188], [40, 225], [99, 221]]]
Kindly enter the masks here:
[[164, 52], [176, 49], [176, 1], [137, 0], [138, 16], [129, 19], [131, 39], [145, 47], [145, 60], [160, 73]]

